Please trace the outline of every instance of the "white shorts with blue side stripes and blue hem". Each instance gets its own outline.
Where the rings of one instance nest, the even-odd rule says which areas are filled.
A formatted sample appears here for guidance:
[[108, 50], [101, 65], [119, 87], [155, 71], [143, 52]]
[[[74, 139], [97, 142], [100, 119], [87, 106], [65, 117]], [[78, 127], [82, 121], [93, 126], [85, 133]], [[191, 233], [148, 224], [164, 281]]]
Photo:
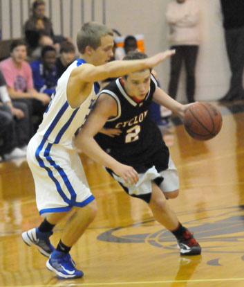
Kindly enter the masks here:
[[84, 207], [94, 200], [75, 148], [48, 143], [35, 134], [28, 144], [27, 161], [40, 216]]

